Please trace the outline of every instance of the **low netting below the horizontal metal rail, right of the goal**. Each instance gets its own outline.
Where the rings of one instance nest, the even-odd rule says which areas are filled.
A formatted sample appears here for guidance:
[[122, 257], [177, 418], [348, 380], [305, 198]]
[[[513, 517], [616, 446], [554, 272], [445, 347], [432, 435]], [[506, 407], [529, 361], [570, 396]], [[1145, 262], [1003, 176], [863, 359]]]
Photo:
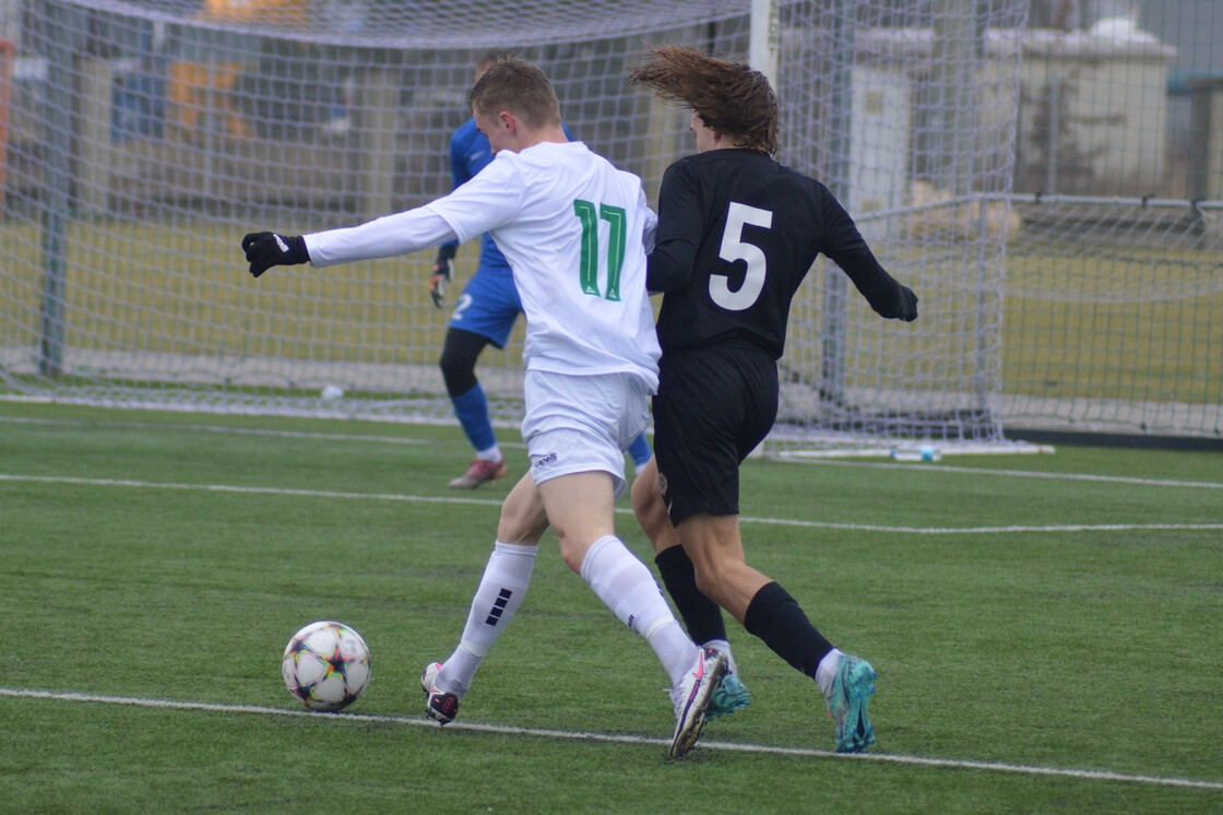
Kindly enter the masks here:
[[1029, 436], [1218, 439], [1223, 203], [1059, 195], [1013, 204], [1026, 237], [1007, 257], [1008, 423]]

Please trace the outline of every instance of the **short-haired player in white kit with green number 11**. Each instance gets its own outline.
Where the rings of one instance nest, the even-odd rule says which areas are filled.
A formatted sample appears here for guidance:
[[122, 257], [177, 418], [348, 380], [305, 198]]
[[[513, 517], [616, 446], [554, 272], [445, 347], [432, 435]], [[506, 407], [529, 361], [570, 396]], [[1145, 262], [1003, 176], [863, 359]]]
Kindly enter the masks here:
[[306, 236], [252, 233], [251, 274], [272, 266], [329, 266], [466, 241], [490, 233], [514, 270], [527, 317], [522, 436], [531, 472], [501, 505], [497, 542], [459, 647], [421, 677], [426, 715], [454, 720], [481, 661], [514, 616], [550, 525], [565, 563], [653, 647], [673, 690], [670, 754], [701, 734], [725, 657], [698, 647], [671, 614], [649, 569], [615, 536], [624, 449], [648, 421], [658, 340], [646, 292], [654, 215], [641, 181], [569, 142], [543, 72], [522, 60], [489, 66], [472, 113], [497, 158], [449, 196], [351, 229]]

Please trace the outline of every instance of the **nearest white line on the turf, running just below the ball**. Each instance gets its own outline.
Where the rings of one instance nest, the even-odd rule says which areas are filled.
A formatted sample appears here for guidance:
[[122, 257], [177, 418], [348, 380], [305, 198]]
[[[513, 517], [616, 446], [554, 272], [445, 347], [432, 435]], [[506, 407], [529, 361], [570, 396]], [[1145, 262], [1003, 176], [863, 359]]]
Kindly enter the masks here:
[[[437, 724], [424, 718], [408, 718], [406, 716], [373, 716], [368, 713], [319, 713], [308, 710], [290, 710], [284, 707], [262, 707], [258, 705], [219, 705], [213, 702], [174, 701], [169, 699], [136, 699], [131, 696], [102, 696], [97, 694], [54, 693], [49, 690], [22, 690], [17, 688], [0, 688], [0, 696], [18, 699], [49, 699], [70, 702], [95, 702], [103, 705], [130, 705], [133, 707], [160, 707], [170, 710], [205, 711], [214, 713], [249, 713], [257, 716], [309, 716], [319, 720], [334, 722], [380, 722], [389, 724], [407, 724], [416, 727], [435, 728]], [[548, 739], [574, 739], [583, 742], [604, 742], [613, 744], [649, 744], [665, 748], [670, 739], [652, 738], [647, 735], [624, 735], [618, 733], [583, 733], [578, 731], [553, 731], [534, 727], [512, 727], [508, 724], [481, 724], [478, 722], [451, 722], [446, 726], [450, 731], [473, 731], [478, 733], [498, 733], [503, 735], [528, 735]], [[1159, 786], [1159, 787], [1189, 787], [1195, 789], [1219, 789], [1223, 791], [1223, 781], [1200, 781], [1194, 778], [1174, 778], [1167, 776], [1144, 776], [1125, 772], [1110, 772], [1102, 770], [1073, 770], [1062, 767], [1036, 767], [1021, 764], [1004, 764], [997, 761], [966, 761], [956, 759], [927, 759], [915, 755], [890, 755], [887, 753], [866, 753], [846, 755], [830, 750], [815, 750], [810, 748], [769, 746], [766, 744], [739, 744], [734, 742], [701, 742], [701, 749], [719, 750], [726, 753], [762, 753], [769, 755], [797, 755], [819, 759], [843, 759], [848, 761], [876, 761], [882, 764], [903, 764], [927, 767], [947, 767], [954, 770], [980, 770], [985, 772], [1005, 772], [1026, 776], [1052, 776], [1058, 778], [1080, 778], [1085, 781], [1117, 781], [1124, 783]]]

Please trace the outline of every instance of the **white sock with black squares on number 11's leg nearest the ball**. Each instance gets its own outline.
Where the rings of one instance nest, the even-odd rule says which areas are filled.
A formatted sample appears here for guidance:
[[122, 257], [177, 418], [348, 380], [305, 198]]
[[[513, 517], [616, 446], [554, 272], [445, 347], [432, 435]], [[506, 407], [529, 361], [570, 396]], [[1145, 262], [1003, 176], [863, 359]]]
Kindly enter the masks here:
[[493, 642], [522, 605], [534, 568], [536, 547], [497, 541], [488, 556], [484, 576], [471, 598], [467, 624], [459, 647], [442, 666], [437, 688], [462, 696]]

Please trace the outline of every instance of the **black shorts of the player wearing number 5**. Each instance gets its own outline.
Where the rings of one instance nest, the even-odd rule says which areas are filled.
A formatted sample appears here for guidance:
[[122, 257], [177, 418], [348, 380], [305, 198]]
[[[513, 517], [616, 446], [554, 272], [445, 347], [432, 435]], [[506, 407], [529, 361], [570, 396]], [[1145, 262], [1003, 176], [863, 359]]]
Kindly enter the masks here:
[[654, 396], [654, 455], [673, 524], [739, 514], [739, 465], [777, 419], [777, 361], [763, 351], [664, 352]]

